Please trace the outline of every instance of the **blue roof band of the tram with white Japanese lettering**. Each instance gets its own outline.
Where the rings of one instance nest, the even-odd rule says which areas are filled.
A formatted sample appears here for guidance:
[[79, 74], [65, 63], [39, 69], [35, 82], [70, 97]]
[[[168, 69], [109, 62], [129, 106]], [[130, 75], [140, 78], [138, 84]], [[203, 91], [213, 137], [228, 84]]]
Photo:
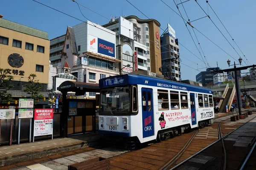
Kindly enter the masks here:
[[106, 77], [99, 80], [99, 88], [114, 88], [124, 85], [148, 85], [160, 88], [169, 88], [173, 90], [195, 91], [212, 94], [212, 90], [208, 88], [145, 75], [123, 74]]

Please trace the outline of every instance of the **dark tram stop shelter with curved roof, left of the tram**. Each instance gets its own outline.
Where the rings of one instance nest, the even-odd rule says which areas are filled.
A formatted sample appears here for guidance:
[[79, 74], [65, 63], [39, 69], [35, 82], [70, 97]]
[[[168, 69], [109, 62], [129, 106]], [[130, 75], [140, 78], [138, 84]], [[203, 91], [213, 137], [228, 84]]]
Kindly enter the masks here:
[[96, 131], [96, 100], [67, 99], [68, 92], [76, 96], [86, 92], [99, 93], [99, 84], [65, 81], [57, 88], [62, 93], [62, 113], [60, 117], [60, 136]]

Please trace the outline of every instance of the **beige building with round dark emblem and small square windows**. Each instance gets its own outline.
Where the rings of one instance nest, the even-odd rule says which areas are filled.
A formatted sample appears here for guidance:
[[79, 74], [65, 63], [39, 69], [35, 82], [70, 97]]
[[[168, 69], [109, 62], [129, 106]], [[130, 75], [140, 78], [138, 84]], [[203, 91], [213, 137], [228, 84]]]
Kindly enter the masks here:
[[47, 91], [49, 47], [47, 32], [0, 18], [0, 68], [14, 77], [13, 96], [26, 95], [23, 85], [29, 74], [36, 74], [42, 91]]

